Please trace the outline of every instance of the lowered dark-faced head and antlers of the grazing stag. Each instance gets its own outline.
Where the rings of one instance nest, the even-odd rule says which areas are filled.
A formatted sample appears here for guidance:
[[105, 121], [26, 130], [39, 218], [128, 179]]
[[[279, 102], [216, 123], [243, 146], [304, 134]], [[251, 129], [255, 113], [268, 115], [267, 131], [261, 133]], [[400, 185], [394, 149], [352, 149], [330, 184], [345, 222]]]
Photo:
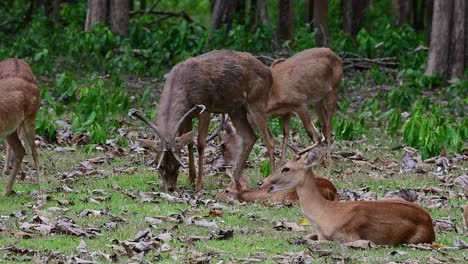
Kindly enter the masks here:
[[188, 111], [175, 125], [173, 133], [170, 135], [162, 134], [159, 128], [136, 109], [131, 109], [128, 115], [132, 118], [136, 117], [148, 126], [150, 126], [157, 139], [140, 139], [139, 141], [155, 151], [158, 156], [157, 169], [162, 179], [162, 188], [167, 191], [173, 191], [177, 186], [177, 177], [179, 175], [179, 167], [183, 165], [180, 158], [180, 150], [189, 143], [193, 142], [193, 131], [187, 132], [181, 136], [177, 136], [180, 126], [197, 108], [201, 108], [203, 112], [204, 106], [197, 105]]

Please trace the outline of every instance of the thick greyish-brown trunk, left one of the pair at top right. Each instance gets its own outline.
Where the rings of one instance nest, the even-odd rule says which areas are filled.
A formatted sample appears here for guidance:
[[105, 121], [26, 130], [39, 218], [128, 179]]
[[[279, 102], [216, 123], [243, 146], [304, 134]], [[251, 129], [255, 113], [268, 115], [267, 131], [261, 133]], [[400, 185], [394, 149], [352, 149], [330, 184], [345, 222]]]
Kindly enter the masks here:
[[450, 17], [453, 1], [434, 0], [431, 45], [426, 75], [447, 75], [450, 49]]

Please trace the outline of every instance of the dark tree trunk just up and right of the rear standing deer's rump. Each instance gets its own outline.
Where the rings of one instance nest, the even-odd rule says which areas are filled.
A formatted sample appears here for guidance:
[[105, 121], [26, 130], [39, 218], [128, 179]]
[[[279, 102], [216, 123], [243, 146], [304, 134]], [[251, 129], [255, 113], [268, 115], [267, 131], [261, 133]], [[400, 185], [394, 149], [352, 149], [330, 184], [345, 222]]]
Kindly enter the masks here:
[[341, 0], [341, 15], [343, 18], [343, 31], [356, 36], [362, 27], [364, 10], [369, 0]]

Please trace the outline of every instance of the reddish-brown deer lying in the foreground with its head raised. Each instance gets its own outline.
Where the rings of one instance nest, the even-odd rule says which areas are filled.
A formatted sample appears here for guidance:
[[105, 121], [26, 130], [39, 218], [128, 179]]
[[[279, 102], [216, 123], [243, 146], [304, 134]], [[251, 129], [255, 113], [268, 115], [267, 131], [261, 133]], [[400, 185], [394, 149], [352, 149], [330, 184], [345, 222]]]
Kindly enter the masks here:
[[[319, 239], [338, 242], [370, 240], [379, 245], [432, 243], [432, 219], [420, 206], [400, 199], [329, 201], [320, 195], [312, 166], [327, 148], [318, 146], [281, 167], [269, 192], [296, 188], [302, 212], [317, 228]], [[299, 160], [304, 160], [299, 162]], [[304, 165], [305, 164], [305, 165]]]

